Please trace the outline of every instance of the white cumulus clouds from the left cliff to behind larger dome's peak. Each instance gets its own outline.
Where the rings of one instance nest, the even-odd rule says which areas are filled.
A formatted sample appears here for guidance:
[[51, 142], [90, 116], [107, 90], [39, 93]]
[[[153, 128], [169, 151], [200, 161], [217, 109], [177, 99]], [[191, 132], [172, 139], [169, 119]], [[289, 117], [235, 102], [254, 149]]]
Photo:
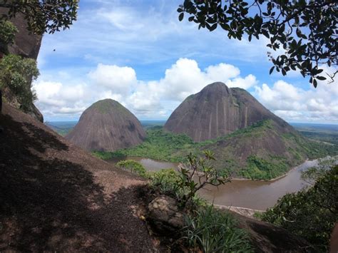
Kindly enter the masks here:
[[[38, 106], [44, 114], [78, 113], [96, 100], [112, 98], [140, 118], [164, 118], [188, 95], [199, 92], [209, 83], [222, 81], [230, 87], [250, 88], [255, 76], [240, 76], [240, 69], [219, 63], [200, 69], [195, 60], [180, 58], [155, 81], [140, 81], [133, 68], [99, 63], [88, 72], [90, 83], [68, 83], [71, 75], [58, 75], [62, 81], [39, 79], [34, 89]], [[67, 83], [67, 86], [64, 85]]]

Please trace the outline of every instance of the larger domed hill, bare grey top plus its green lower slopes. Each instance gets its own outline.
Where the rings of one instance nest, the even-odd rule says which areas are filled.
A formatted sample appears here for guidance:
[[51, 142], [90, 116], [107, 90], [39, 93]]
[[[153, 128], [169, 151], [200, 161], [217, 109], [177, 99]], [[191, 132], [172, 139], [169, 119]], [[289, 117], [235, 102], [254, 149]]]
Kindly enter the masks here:
[[218, 170], [262, 180], [338, 152], [333, 144], [304, 138], [247, 91], [212, 83], [186, 98], [164, 130], [149, 129], [144, 143], [113, 155], [182, 162], [190, 152], [201, 155], [203, 150], [215, 153]]

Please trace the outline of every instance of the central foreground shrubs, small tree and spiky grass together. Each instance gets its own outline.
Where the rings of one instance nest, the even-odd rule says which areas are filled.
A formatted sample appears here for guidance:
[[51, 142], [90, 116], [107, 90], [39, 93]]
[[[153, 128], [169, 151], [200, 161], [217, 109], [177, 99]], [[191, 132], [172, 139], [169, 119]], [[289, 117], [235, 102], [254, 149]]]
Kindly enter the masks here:
[[[252, 252], [250, 240], [244, 229], [239, 229], [237, 221], [229, 212], [216, 210], [212, 205], [195, 195], [206, 184], [219, 185], [226, 182], [209, 166], [212, 153], [205, 152], [205, 158], [188, 156], [190, 170], [181, 168], [160, 172], [146, 172], [140, 163], [133, 160], [118, 162], [118, 167], [130, 170], [149, 179], [150, 189], [158, 195], [168, 195], [180, 203], [185, 213], [185, 227], [178, 231], [180, 240], [188, 248], [202, 252]], [[197, 172], [203, 173], [198, 175]], [[198, 176], [198, 182], [193, 177]], [[201, 179], [204, 178], [204, 181]]]

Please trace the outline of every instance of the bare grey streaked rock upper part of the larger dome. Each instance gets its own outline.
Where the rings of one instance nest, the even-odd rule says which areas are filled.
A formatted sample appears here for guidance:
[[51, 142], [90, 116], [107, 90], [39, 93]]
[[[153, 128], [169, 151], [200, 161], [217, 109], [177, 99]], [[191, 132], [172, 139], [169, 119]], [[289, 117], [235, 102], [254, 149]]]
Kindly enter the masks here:
[[200, 142], [267, 119], [275, 121], [283, 131], [292, 130], [289, 124], [267, 110], [247, 91], [227, 88], [224, 83], [217, 82], [185, 98], [164, 128], [173, 133], [185, 133], [195, 142]]

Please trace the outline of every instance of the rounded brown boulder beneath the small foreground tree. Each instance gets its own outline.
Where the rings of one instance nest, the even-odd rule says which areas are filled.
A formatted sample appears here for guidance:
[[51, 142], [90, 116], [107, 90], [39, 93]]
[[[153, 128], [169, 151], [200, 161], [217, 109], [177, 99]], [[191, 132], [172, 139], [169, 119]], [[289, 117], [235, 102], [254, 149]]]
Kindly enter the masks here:
[[178, 203], [172, 197], [160, 196], [148, 205], [148, 220], [160, 233], [177, 232], [183, 228], [183, 212], [178, 211]]

